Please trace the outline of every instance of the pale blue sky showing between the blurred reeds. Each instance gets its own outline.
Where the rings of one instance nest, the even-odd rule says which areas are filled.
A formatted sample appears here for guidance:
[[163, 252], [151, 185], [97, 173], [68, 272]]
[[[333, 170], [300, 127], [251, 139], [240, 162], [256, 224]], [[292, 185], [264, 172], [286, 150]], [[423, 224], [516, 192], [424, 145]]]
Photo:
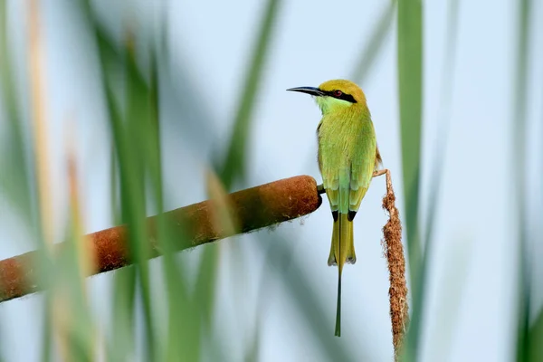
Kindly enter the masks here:
[[[69, 129], [74, 142], [81, 179], [85, 230], [110, 227], [109, 143], [104, 110], [98, 97], [100, 84], [94, 49], [81, 44], [81, 24], [74, 17], [71, 2], [43, 0], [43, 34], [48, 71], [47, 97], [51, 137], [52, 196], [58, 238], [66, 216], [64, 153]], [[140, 19], [138, 32], [149, 35], [152, 14], [159, 19], [162, 2], [96, 1], [100, 13], [119, 34], [130, 15]], [[262, 5], [256, 1], [170, 1], [167, 12], [172, 62], [185, 66], [189, 82], [172, 80], [179, 88], [189, 87], [205, 108], [206, 122], [184, 124], [183, 117], [165, 105], [163, 129], [167, 208], [173, 209], [204, 199], [205, 167], [230, 136], [237, 94], [243, 85], [248, 54], [260, 22]], [[424, 147], [422, 201], [425, 205], [431, 155], [438, 125], [443, 122], [443, 53], [447, 1], [424, 2]], [[460, 0], [458, 51], [452, 76], [450, 129], [447, 132], [443, 187], [433, 241], [432, 277], [428, 288], [429, 308], [424, 319], [422, 360], [508, 361], [513, 353], [510, 332], [515, 320], [511, 312], [516, 300], [515, 225], [510, 222], [510, 129], [516, 47], [517, 2], [507, 0]], [[532, 16], [541, 19], [543, 4], [534, 5]], [[17, 65], [21, 94], [26, 94], [24, 2], [8, 0], [10, 37]], [[376, 25], [386, 2], [310, 0], [285, 1], [265, 67], [261, 92], [254, 112], [247, 184], [256, 186], [283, 177], [307, 174], [320, 182], [316, 164], [315, 129], [319, 110], [310, 97], [285, 91], [296, 86], [317, 86], [322, 81], [348, 77], [357, 56]], [[121, 20], [124, 19], [124, 20]], [[540, 126], [543, 92], [543, 22], [534, 34], [530, 55], [529, 98], [529, 206], [543, 207], [540, 183]], [[84, 36], [85, 33], [83, 33]], [[83, 37], [84, 40], [88, 40]], [[395, 26], [367, 79], [360, 83], [372, 112], [385, 167], [391, 169], [398, 205], [403, 210], [401, 157], [399, 149], [396, 89]], [[89, 67], [92, 71], [88, 71]], [[172, 90], [167, 90], [168, 91]], [[166, 95], [167, 97], [167, 95]], [[28, 103], [24, 102], [24, 107]], [[1, 109], [0, 109], [1, 110]], [[189, 111], [189, 110], [187, 110]], [[2, 114], [2, 113], [0, 113]], [[179, 123], [176, 124], [176, 119]], [[75, 127], [68, 126], [74, 123]], [[197, 150], [195, 146], [197, 145]], [[361, 206], [356, 222], [357, 264], [348, 266], [343, 280], [342, 338], [333, 343], [352, 345], [359, 358], [380, 361], [393, 356], [388, 316], [388, 277], [382, 257], [381, 228], [386, 214], [381, 210], [384, 179], [375, 179]], [[33, 248], [21, 224], [9, 216], [0, 198], [0, 258]], [[426, 214], [423, 213], [425, 216]], [[537, 216], [530, 219], [534, 234], [542, 232]], [[327, 266], [331, 217], [328, 202], [317, 212], [282, 224], [275, 231], [291, 237], [291, 252], [300, 267], [318, 282], [319, 298], [327, 307], [322, 316], [333, 337], [336, 310], [337, 270]], [[304, 335], [300, 319], [284, 295], [281, 283], [262, 269], [262, 245], [255, 235], [243, 235], [221, 242], [221, 272], [216, 331], [239, 336], [226, 346], [230, 357], [243, 356], [243, 341], [252, 329], [257, 287], [264, 283], [269, 300], [261, 315], [260, 359], [322, 360]], [[262, 243], [262, 242], [261, 242]], [[234, 248], [235, 244], [235, 248]], [[264, 245], [269, 247], [269, 245]], [[234, 252], [243, 251], [246, 278], [234, 279]], [[201, 250], [183, 252], [179, 258], [195, 262]], [[541, 255], [541, 243], [534, 254]], [[152, 262], [157, 266], [159, 261]], [[536, 265], [536, 282], [542, 281], [542, 267]], [[285, 267], [288, 278], [289, 266]], [[108, 320], [107, 302], [99, 292], [109, 292], [112, 273], [90, 279], [90, 295], [100, 320]], [[157, 287], [159, 288], [159, 286]], [[243, 291], [243, 298], [240, 293]], [[462, 294], [461, 294], [462, 292]], [[534, 291], [537, 305], [542, 290]], [[0, 348], [8, 360], [33, 360], [39, 355], [42, 297], [33, 295], [0, 305]], [[241, 316], [241, 317], [239, 317]], [[241, 319], [241, 322], [237, 320]], [[9, 332], [7, 331], [9, 330]]]

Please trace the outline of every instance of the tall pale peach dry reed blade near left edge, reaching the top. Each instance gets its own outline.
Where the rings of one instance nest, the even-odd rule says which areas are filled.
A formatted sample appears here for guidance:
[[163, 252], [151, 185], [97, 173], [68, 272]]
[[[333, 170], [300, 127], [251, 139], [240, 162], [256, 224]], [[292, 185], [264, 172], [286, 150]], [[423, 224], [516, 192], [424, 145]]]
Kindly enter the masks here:
[[[62, 346], [62, 336], [59, 335], [58, 320], [55, 319], [54, 310], [58, 308], [57, 301], [61, 300], [55, 295], [55, 291], [51, 291], [51, 287], [57, 283], [55, 273], [58, 272], [59, 265], [52, 260], [52, 255], [49, 252], [49, 247], [52, 244], [52, 199], [50, 195], [50, 173], [49, 166], [51, 159], [49, 157], [49, 139], [46, 132], [46, 105], [47, 99], [46, 86], [44, 85], [44, 35], [41, 32], [42, 14], [41, 3], [37, 0], [29, 1], [24, 8], [26, 20], [26, 51], [27, 51], [27, 71], [28, 71], [28, 91], [30, 107], [30, 124], [32, 129], [29, 130], [28, 137], [32, 139], [29, 142], [33, 157], [28, 158], [27, 165], [18, 165], [16, 167], [28, 167], [32, 169], [33, 175], [29, 174], [28, 180], [32, 179], [33, 188], [27, 192], [33, 192], [33, 200], [29, 203], [31, 208], [30, 217], [33, 227], [33, 236], [39, 245], [39, 265], [34, 268], [38, 270], [39, 281], [48, 287], [50, 292], [47, 292], [43, 303], [43, 325], [42, 325], [42, 357], [44, 361], [48, 361], [52, 357], [52, 342], [58, 341]], [[9, 32], [7, 32], [9, 33]], [[6, 55], [8, 52], [6, 52]], [[6, 56], [7, 59], [7, 56]], [[14, 93], [13, 93], [14, 94]], [[13, 98], [14, 101], [14, 98]], [[15, 104], [12, 105], [15, 107]], [[13, 119], [15, 122], [22, 123], [22, 119]], [[15, 126], [17, 127], [17, 126]], [[22, 131], [22, 129], [19, 129]], [[23, 138], [23, 133], [20, 133]], [[22, 140], [22, 139], [21, 139]], [[16, 150], [16, 152], [24, 153], [24, 148]], [[25, 185], [24, 180], [22, 181]], [[27, 181], [28, 182], [28, 181]], [[26, 184], [28, 185], [28, 184]], [[24, 200], [24, 197], [22, 197]], [[55, 340], [56, 337], [56, 340]], [[59, 337], [61, 340], [59, 340]]]

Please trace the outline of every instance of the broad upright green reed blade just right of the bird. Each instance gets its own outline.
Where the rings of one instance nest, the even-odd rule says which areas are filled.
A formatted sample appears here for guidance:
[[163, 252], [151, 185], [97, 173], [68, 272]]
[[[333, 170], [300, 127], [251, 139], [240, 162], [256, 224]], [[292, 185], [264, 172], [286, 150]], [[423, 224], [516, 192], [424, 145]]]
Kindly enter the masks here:
[[421, 129], [423, 110], [423, 5], [421, 0], [398, 2], [398, 86], [404, 171], [405, 226], [412, 291], [412, 319], [406, 352], [418, 360], [419, 324], [424, 293], [420, 283], [422, 246], [418, 230]]

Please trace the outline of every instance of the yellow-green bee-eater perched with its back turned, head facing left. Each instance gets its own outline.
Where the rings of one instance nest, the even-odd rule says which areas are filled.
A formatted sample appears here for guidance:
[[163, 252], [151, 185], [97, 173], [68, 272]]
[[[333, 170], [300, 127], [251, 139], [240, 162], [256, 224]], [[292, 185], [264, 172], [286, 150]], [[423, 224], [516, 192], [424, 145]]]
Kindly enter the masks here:
[[315, 97], [322, 112], [317, 128], [319, 169], [328, 195], [334, 229], [329, 265], [338, 265], [338, 311], [336, 336], [341, 335], [341, 272], [343, 265], [357, 262], [353, 220], [381, 157], [376, 131], [364, 92], [352, 81], [325, 81], [314, 87], [289, 90]]

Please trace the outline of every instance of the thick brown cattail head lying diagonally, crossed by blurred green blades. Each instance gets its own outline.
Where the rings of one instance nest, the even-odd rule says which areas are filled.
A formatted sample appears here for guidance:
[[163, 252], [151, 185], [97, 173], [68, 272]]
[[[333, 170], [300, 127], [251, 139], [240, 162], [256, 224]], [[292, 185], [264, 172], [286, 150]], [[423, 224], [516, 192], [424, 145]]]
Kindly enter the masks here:
[[[176, 250], [192, 248], [204, 243], [214, 242], [237, 233], [248, 233], [262, 227], [295, 219], [317, 210], [322, 199], [317, 192], [317, 183], [311, 176], [295, 176], [262, 186], [248, 188], [225, 196], [225, 204], [231, 208], [236, 220], [236, 228], [226, 228], [215, 222], [215, 200], [207, 200], [188, 205], [161, 216], [168, 226], [184, 233], [190, 243], [176, 244]], [[157, 244], [157, 216], [148, 217], [148, 243], [153, 253], [160, 254]], [[180, 230], [182, 229], [182, 230]], [[94, 267], [92, 273], [112, 271], [127, 265], [130, 260], [129, 241], [125, 225], [112, 227], [86, 235], [90, 258]], [[66, 243], [56, 243], [52, 254], [59, 254]], [[36, 267], [40, 261], [39, 252], [26, 252], [22, 255], [0, 261], [0, 302], [12, 300], [35, 291], [42, 290]]]

